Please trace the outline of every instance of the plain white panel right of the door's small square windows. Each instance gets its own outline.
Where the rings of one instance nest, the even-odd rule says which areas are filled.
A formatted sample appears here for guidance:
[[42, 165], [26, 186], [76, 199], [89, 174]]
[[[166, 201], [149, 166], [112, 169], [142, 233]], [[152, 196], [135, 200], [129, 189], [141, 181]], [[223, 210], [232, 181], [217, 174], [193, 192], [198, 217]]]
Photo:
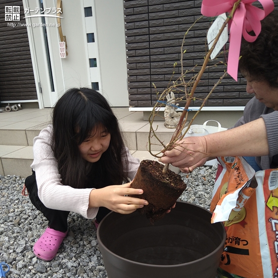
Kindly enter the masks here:
[[96, 0], [102, 94], [113, 106], [128, 106], [122, 0]]

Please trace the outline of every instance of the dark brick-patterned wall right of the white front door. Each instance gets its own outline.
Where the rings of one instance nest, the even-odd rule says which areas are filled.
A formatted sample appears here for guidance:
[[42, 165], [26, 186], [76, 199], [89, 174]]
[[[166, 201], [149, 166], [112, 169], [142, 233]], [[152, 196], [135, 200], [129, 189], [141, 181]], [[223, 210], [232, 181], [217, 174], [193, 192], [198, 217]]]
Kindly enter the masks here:
[[[277, 6], [278, 0], [275, 0]], [[129, 105], [151, 107], [159, 92], [167, 87], [177, 62], [175, 73], [180, 73], [180, 47], [184, 33], [201, 16], [201, 0], [125, 0], [125, 34], [128, 68]], [[183, 66], [192, 69], [203, 64], [205, 39], [210, 21], [204, 17], [189, 31], [184, 43]], [[196, 101], [200, 106], [215, 82], [223, 73], [223, 66], [210, 68], [197, 87]], [[174, 74], [176, 80], [179, 74]], [[192, 74], [188, 74], [190, 79]], [[180, 97], [176, 94], [177, 97]], [[246, 81], [239, 76], [236, 82], [229, 75], [213, 92], [206, 106], [245, 106], [252, 96], [246, 93]], [[182, 105], [179, 102], [180, 106]]]

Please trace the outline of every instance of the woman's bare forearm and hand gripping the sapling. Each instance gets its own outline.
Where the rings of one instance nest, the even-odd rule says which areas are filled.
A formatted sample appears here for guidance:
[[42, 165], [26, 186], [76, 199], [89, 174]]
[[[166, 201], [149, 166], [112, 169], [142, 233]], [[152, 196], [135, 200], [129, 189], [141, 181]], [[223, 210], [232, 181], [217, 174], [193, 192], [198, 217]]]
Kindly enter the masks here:
[[186, 137], [165, 152], [162, 163], [184, 168], [212, 156], [268, 155], [267, 133], [264, 120], [259, 118], [242, 126], [206, 136]]

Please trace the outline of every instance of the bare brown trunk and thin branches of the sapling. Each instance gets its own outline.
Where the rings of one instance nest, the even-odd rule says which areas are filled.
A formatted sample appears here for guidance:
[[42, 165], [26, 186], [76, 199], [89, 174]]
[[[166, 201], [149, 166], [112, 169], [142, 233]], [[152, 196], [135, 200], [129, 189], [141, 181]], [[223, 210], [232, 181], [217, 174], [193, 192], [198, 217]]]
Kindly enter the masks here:
[[[196, 91], [196, 88], [199, 84], [199, 82], [201, 81], [202, 75], [205, 72], [205, 70], [211, 68], [211, 67], [217, 67], [219, 64], [223, 64], [225, 65], [222, 61], [217, 61], [217, 58], [219, 57], [219, 55], [225, 53], [224, 51], [221, 52], [220, 54], [217, 55], [217, 57], [215, 58], [214, 61], [216, 61], [213, 65], [208, 65], [208, 62], [210, 61], [210, 55], [213, 52], [216, 43], [218, 42], [224, 28], [226, 27], [226, 25], [228, 24], [229, 20], [233, 18], [234, 13], [236, 11], [236, 9], [239, 7], [241, 0], [238, 0], [235, 4], [234, 7], [232, 9], [232, 11], [230, 12], [230, 14], [227, 16], [225, 22], [223, 23], [223, 25], [221, 26], [218, 34], [216, 35], [213, 43], [212, 43], [212, 47], [210, 48], [209, 51], [206, 51], [206, 55], [204, 57], [204, 62], [202, 66], [198, 66], [195, 65], [191, 70], [186, 70], [184, 72], [184, 67], [183, 67], [183, 56], [186, 53], [186, 50], [183, 50], [184, 48], [184, 42], [186, 39], [186, 36], [188, 34], [188, 32], [193, 28], [193, 26], [195, 25], [195, 23], [197, 21], [199, 21], [202, 17], [198, 18], [193, 25], [187, 30], [187, 32], [184, 34], [183, 40], [182, 40], [182, 44], [181, 44], [181, 48], [180, 48], [180, 67], [181, 67], [181, 74], [180, 76], [175, 80], [172, 81], [174, 73], [175, 73], [175, 67], [177, 66], [177, 63], [175, 62], [173, 65], [173, 74], [172, 77], [170, 78], [170, 81], [168, 83], [168, 86], [165, 90], [163, 90], [163, 92], [161, 94], [159, 94], [159, 92], [157, 92], [156, 86], [155, 84], [154, 87], [156, 89], [156, 95], [157, 95], [157, 102], [155, 103], [153, 110], [149, 116], [149, 123], [150, 123], [150, 132], [149, 132], [149, 152], [154, 156], [154, 157], [162, 157], [163, 153], [166, 150], [171, 150], [173, 148], [175, 148], [177, 146], [177, 141], [181, 140], [184, 136], [184, 134], [186, 134], [186, 132], [189, 130], [190, 126], [192, 125], [193, 121], [195, 120], [195, 118], [197, 117], [197, 115], [200, 113], [201, 109], [203, 108], [203, 106], [205, 105], [206, 101], [208, 100], [208, 98], [211, 96], [212, 92], [214, 91], [214, 89], [217, 87], [217, 85], [222, 81], [222, 79], [227, 75], [226, 71], [224, 71], [224, 73], [222, 74], [222, 76], [219, 78], [219, 80], [214, 84], [213, 88], [210, 90], [209, 94], [207, 95], [207, 97], [203, 100], [199, 110], [195, 113], [195, 115], [193, 116], [193, 118], [190, 120], [187, 129], [185, 130], [185, 132], [182, 132], [182, 130], [184, 129], [184, 126], [187, 123], [187, 119], [188, 119], [188, 115], [189, 115], [189, 107], [191, 104], [192, 100], [196, 100], [194, 97], [194, 93]], [[196, 72], [196, 70], [200, 68], [200, 70], [198, 72]], [[189, 73], [195, 73], [190, 79], [189, 81], [186, 81], [186, 76]], [[187, 78], [188, 79], [188, 78]], [[154, 130], [153, 128], [153, 123], [154, 123], [154, 119], [156, 116], [158, 116], [159, 110], [161, 107], [163, 107], [163, 105], [167, 105], [167, 101], [165, 101], [165, 98], [167, 96], [167, 94], [169, 94], [171, 91], [173, 91], [176, 94], [184, 94], [184, 97], [178, 97], [176, 100], [177, 101], [186, 101], [186, 104], [184, 106], [184, 109], [182, 110], [177, 128], [175, 129], [170, 142], [167, 144], [167, 146], [164, 145], [164, 143], [159, 139], [159, 137], [156, 135], [156, 130]], [[200, 98], [199, 98], [200, 100]], [[180, 108], [180, 107], [179, 107]], [[182, 109], [182, 108], [180, 108]], [[158, 142], [161, 144], [161, 146], [163, 147], [163, 150], [157, 154], [153, 154], [151, 151], [151, 146], [152, 145], [156, 145], [156, 144], [152, 144], [151, 143], [151, 138], [155, 137]], [[184, 149], [184, 151], [186, 151], [187, 149]], [[188, 150], [190, 151], [190, 150]], [[159, 156], [160, 154], [162, 154], [162, 156]], [[167, 171], [169, 167], [169, 164], [165, 164], [165, 167], [163, 169], [163, 173], [165, 173]]]

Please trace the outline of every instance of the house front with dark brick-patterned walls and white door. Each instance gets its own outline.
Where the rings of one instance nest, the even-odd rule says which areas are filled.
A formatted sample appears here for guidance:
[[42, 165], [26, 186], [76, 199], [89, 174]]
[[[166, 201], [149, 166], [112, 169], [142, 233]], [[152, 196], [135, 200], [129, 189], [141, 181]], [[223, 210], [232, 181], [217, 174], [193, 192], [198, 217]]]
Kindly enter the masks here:
[[[26, 7], [33, 8], [38, 4], [37, 0], [23, 2]], [[57, 4], [56, 0], [43, 0], [43, 3], [49, 8]], [[55, 87], [51, 91], [41, 28], [28, 27], [31, 60], [26, 27], [7, 27], [4, 13], [8, 4], [6, 0], [0, 0], [0, 100], [36, 101], [41, 108], [53, 107], [65, 89], [90, 87], [91, 82], [96, 81], [112, 106], [151, 108], [156, 103], [153, 84], [161, 92], [169, 80], [174, 80], [181, 72], [178, 61], [182, 38], [200, 17], [201, 3], [201, 0], [64, 1], [62, 29], [67, 37], [69, 55], [60, 59], [58, 30], [48, 27]], [[277, 7], [278, 0], [274, 3]], [[21, 7], [20, 23], [25, 23], [22, 1], [9, 1], [9, 5]], [[94, 13], [92, 17], [84, 18], [84, 8], [88, 6]], [[46, 20], [48, 23], [57, 22], [51, 18]], [[39, 22], [39, 19], [26, 22]], [[183, 59], [185, 69], [202, 64], [209, 25], [209, 19], [203, 18], [189, 31], [184, 43], [184, 50], [187, 50]], [[94, 49], [92, 43], [87, 43], [88, 32], [95, 32]], [[97, 73], [88, 65], [88, 59], [95, 57], [99, 67]], [[175, 62], [178, 64], [172, 76]], [[207, 96], [222, 71], [223, 68], [218, 66], [203, 75], [191, 106], [200, 106], [201, 99]], [[191, 77], [192, 74], [188, 74], [186, 78]], [[206, 107], [240, 107], [242, 110], [250, 99], [245, 86], [241, 76], [238, 82], [227, 76], [213, 92]], [[182, 104], [179, 102], [180, 106]]]

